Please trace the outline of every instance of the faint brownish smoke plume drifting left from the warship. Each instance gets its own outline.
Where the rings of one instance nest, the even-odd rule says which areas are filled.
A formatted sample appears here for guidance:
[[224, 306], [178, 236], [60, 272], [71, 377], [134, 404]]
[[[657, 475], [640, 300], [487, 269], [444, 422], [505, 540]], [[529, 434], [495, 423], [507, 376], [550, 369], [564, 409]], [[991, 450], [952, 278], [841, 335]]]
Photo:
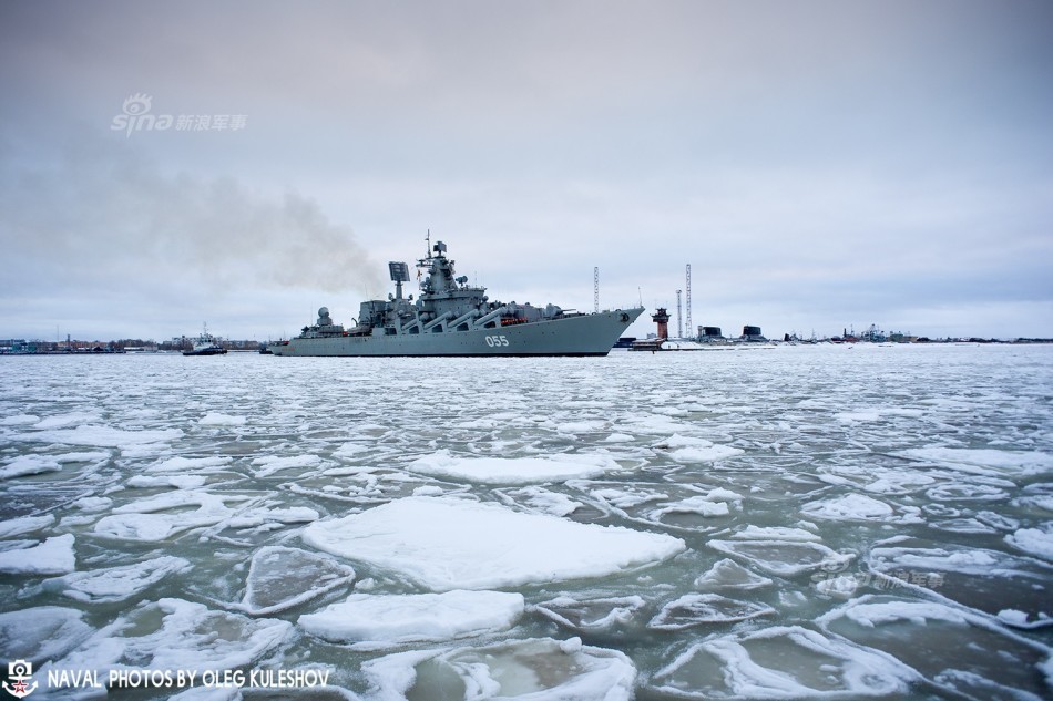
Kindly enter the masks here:
[[[6, 279], [168, 280], [213, 292], [263, 284], [365, 293], [384, 284], [351, 228], [305, 195], [254, 192], [232, 177], [166, 175], [114, 153], [81, 147], [53, 168], [8, 165], [0, 195]], [[41, 262], [25, 269], [20, 257]]]

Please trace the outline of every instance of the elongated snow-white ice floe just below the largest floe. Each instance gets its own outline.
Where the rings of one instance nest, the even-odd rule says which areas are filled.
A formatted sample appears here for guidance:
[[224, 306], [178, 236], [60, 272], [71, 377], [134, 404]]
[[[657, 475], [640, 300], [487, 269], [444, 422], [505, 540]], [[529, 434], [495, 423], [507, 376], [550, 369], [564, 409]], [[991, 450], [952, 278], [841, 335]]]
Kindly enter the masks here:
[[297, 623], [330, 642], [382, 649], [508, 630], [523, 615], [523, 595], [454, 589], [442, 594], [351, 595]]

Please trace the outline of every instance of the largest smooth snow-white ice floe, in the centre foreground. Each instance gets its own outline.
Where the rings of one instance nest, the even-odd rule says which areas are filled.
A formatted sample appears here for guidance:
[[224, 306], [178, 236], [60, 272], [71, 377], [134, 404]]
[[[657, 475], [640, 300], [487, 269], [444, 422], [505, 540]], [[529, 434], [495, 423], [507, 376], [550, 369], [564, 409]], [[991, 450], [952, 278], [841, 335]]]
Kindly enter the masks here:
[[686, 548], [662, 534], [444, 497], [408, 497], [317, 522], [303, 538], [438, 591], [602, 577], [654, 565]]

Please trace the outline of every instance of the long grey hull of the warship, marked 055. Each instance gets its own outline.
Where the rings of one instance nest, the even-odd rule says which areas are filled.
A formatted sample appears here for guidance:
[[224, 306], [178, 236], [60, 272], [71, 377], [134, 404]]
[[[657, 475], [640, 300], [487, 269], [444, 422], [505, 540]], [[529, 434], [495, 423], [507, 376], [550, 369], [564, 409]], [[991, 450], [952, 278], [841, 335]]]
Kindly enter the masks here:
[[296, 357], [606, 355], [641, 313], [642, 307], [467, 331], [295, 338], [269, 349]]

